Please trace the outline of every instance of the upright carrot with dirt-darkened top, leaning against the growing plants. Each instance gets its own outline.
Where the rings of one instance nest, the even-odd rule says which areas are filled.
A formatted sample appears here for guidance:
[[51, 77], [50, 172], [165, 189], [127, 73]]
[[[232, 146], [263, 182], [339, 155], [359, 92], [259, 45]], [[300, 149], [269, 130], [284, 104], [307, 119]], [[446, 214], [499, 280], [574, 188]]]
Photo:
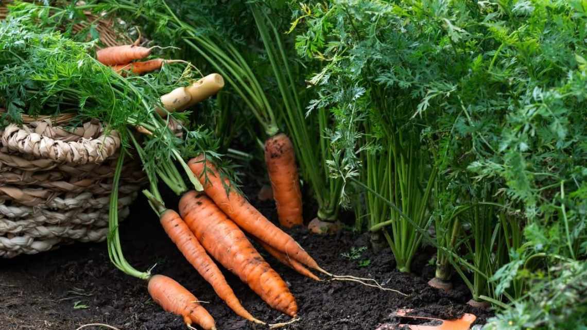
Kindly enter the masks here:
[[302, 192], [294, 146], [284, 133], [265, 141], [265, 164], [273, 189], [279, 223], [287, 228], [302, 225]]

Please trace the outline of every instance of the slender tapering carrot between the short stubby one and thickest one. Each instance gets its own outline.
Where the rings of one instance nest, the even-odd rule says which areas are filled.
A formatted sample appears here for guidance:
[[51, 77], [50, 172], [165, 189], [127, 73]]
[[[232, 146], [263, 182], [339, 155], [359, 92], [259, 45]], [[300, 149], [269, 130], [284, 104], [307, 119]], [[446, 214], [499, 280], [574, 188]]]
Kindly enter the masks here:
[[197, 238], [191, 233], [190, 228], [176, 211], [164, 211], [161, 213], [159, 220], [161, 225], [163, 225], [163, 229], [171, 238], [171, 241], [177, 245], [185, 259], [194, 266], [195, 270], [202, 275], [204, 280], [212, 285], [218, 297], [224, 300], [232, 311], [248, 319], [248, 321], [264, 324], [264, 322], [254, 318], [242, 307], [220, 269], [218, 269], [214, 261], [208, 256], [202, 245], [198, 243]]

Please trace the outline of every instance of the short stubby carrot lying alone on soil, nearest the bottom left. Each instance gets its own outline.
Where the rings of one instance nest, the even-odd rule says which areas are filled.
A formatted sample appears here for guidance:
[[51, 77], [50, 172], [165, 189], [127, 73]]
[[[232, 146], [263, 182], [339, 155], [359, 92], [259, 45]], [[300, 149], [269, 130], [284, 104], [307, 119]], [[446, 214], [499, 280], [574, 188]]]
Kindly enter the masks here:
[[172, 278], [153, 275], [147, 289], [151, 298], [165, 311], [183, 316], [188, 327], [192, 328], [191, 324], [195, 323], [204, 330], [216, 330], [214, 319], [198, 304], [198, 299]]

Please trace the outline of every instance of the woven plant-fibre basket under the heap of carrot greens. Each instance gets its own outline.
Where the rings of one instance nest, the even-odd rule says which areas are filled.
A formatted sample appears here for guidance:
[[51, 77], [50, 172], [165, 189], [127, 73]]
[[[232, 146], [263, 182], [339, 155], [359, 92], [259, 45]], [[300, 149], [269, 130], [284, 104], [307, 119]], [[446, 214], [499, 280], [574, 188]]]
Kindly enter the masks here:
[[[0, 8], [0, 19], [5, 13]], [[104, 45], [128, 43], [118, 41], [109, 21], [88, 21], [97, 22]], [[71, 119], [25, 116], [22, 126], [0, 130], [0, 257], [106, 238], [120, 139], [97, 120], [66, 129]], [[137, 158], [125, 162], [120, 179], [121, 220], [145, 179]]]

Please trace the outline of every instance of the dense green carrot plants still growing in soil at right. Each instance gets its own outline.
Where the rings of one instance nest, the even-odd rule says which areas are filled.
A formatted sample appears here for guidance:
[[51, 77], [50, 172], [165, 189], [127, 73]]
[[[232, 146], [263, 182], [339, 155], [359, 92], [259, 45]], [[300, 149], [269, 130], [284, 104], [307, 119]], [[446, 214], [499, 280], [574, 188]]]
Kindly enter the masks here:
[[583, 1], [292, 6], [299, 54], [322, 63], [310, 107], [336, 122], [331, 174], [400, 267], [419, 238], [394, 226], [434, 224], [438, 276], [452, 264], [500, 305], [541, 265], [585, 256]]

